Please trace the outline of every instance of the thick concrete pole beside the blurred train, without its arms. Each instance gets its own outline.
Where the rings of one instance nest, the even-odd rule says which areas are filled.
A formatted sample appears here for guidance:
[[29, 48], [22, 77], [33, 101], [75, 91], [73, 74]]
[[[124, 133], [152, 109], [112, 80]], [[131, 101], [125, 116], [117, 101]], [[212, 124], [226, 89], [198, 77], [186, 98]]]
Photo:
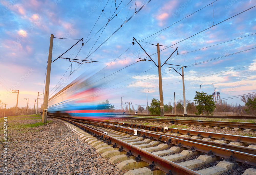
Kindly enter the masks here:
[[50, 86], [51, 57], [52, 57], [53, 38], [54, 38], [54, 35], [51, 34], [50, 47], [49, 47], [49, 56], [48, 56], [48, 64], [47, 64], [47, 73], [46, 73], [46, 82], [45, 82], [45, 98], [44, 98], [42, 123], [46, 123], [47, 122], [47, 111], [48, 111], [48, 98], [49, 98], [49, 86]]

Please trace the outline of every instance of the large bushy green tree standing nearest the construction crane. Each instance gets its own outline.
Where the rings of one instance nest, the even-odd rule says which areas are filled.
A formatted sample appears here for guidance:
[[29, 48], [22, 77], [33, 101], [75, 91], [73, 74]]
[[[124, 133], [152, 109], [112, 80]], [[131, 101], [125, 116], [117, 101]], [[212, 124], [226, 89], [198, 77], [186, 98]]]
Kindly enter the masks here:
[[205, 92], [196, 91], [196, 96], [194, 99], [195, 103], [197, 104], [196, 109], [198, 110], [198, 113], [195, 112], [196, 115], [200, 115], [204, 112], [207, 112], [206, 115], [213, 115], [216, 105], [212, 100], [212, 95], [208, 95]]

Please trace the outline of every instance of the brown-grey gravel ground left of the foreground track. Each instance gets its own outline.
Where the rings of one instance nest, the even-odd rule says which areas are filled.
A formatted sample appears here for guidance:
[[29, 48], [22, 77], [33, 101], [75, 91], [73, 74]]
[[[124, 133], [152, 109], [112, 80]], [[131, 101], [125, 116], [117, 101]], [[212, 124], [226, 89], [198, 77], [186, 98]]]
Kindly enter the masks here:
[[[95, 148], [79, 139], [63, 122], [54, 118], [42, 126], [8, 128], [8, 172], [4, 171], [1, 153], [0, 174], [124, 174]], [[41, 119], [12, 120], [9, 123], [29, 124]], [[1, 133], [3, 138], [3, 133]]]

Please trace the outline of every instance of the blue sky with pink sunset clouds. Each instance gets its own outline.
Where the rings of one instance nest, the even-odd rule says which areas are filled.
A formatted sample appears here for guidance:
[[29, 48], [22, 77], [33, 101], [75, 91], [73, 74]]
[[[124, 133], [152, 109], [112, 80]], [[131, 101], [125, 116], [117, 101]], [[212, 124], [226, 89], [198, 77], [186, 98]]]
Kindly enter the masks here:
[[12, 90], [19, 90], [18, 106], [26, 107], [28, 98], [34, 107], [38, 92], [45, 91], [53, 34], [52, 61], [83, 38], [61, 57], [98, 62], [58, 58], [51, 64], [50, 97], [82, 76], [115, 109], [121, 109], [121, 97], [135, 109], [147, 105], [147, 98], [148, 104], [159, 100], [154, 64], [159, 43], [161, 64], [174, 52], [161, 68], [164, 104], [174, 103], [174, 92], [176, 101], [183, 100], [180, 68], [187, 66], [187, 100], [194, 100], [201, 85], [207, 94], [216, 88], [228, 104], [244, 105], [234, 96], [256, 92], [255, 5], [255, 0], [1, 0], [0, 99], [8, 108], [16, 106]]

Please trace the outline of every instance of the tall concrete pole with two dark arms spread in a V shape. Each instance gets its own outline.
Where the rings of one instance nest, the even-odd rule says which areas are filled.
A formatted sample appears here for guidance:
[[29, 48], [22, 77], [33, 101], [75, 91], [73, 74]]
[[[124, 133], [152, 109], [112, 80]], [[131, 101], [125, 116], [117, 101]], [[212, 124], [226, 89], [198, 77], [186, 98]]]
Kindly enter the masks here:
[[[137, 42], [135, 38], [133, 38]], [[138, 43], [138, 42], [137, 42]], [[134, 42], [132, 42], [134, 44]], [[138, 45], [142, 48], [142, 46], [138, 43]], [[160, 98], [160, 115], [161, 117], [164, 116], [164, 100], [163, 100], [163, 87], [162, 87], [162, 73], [161, 73], [161, 68], [163, 67], [164, 64], [167, 64], [166, 62], [168, 59], [173, 55], [173, 53], [178, 49], [178, 47], [173, 51], [173, 53], [169, 56], [169, 58], [164, 62], [164, 64], [161, 66], [161, 60], [160, 60], [160, 49], [159, 49], [159, 43], [157, 43], [157, 59], [158, 59], [158, 65], [152, 60], [152, 58], [147, 54], [147, 52], [144, 50], [144, 52], [147, 54], [147, 56], [151, 59], [148, 61], [153, 61], [155, 65], [158, 67], [158, 79], [159, 79], [159, 98]], [[179, 55], [178, 50], [177, 50], [177, 55]], [[142, 59], [143, 61], [146, 61], [146, 59]]]

